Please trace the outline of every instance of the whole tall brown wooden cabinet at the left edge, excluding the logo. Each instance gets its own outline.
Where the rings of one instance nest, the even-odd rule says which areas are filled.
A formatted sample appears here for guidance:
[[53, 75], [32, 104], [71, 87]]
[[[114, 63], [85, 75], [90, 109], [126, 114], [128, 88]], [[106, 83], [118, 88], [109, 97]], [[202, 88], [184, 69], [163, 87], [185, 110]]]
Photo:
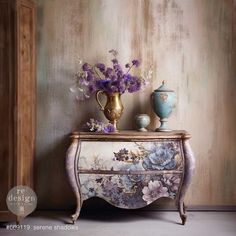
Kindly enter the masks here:
[[0, 0], [0, 220], [8, 191], [33, 186], [35, 35], [33, 2]]

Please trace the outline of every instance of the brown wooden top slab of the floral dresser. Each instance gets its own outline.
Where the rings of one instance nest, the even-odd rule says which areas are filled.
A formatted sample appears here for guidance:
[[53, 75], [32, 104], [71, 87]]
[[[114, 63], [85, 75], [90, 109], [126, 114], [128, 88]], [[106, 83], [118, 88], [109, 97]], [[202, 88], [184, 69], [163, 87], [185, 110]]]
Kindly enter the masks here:
[[168, 132], [138, 132], [135, 130], [122, 130], [117, 133], [102, 132], [73, 132], [71, 138], [82, 140], [150, 140], [150, 139], [189, 139], [191, 136], [185, 130]]

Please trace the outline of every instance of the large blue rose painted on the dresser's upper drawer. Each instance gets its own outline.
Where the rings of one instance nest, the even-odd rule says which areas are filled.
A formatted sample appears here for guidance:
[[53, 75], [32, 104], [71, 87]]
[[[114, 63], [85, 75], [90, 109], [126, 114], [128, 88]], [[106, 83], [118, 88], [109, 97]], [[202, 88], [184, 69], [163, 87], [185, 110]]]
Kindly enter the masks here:
[[175, 154], [175, 150], [168, 145], [153, 146], [143, 160], [143, 168], [146, 170], [173, 169], [176, 166]]

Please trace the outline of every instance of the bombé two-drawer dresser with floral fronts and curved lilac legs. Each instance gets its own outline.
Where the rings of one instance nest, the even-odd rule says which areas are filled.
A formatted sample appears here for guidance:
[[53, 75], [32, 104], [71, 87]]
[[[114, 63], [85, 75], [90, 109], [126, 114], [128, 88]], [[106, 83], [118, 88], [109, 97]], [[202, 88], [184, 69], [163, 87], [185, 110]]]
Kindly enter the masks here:
[[73, 223], [91, 197], [126, 209], [168, 197], [185, 224], [184, 196], [194, 171], [187, 132], [75, 132], [71, 139], [66, 168], [77, 199]]

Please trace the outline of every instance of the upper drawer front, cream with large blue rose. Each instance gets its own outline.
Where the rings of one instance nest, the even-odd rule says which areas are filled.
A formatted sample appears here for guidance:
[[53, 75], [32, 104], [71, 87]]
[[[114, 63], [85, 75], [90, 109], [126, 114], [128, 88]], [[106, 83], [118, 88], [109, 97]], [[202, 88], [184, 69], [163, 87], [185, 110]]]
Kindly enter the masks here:
[[81, 141], [80, 170], [182, 170], [181, 142]]

